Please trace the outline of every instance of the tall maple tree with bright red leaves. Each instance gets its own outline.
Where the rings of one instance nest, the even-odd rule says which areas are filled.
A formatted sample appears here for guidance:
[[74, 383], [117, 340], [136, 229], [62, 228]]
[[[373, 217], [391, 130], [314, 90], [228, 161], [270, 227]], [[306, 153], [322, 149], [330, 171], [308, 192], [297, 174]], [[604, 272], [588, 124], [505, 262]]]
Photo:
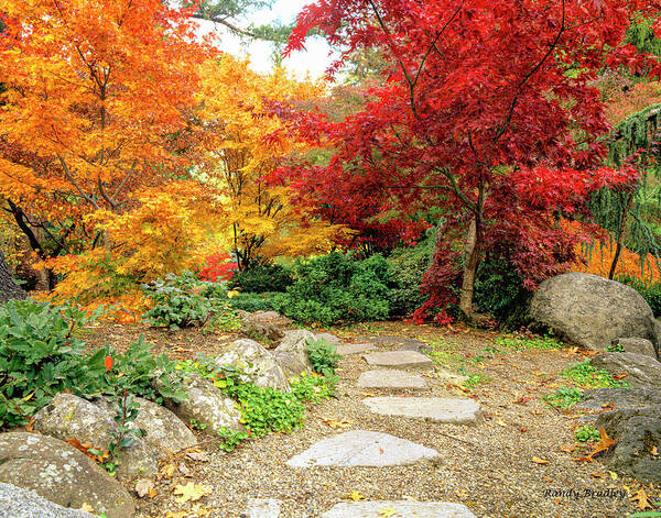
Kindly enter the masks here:
[[307, 5], [288, 51], [318, 30], [344, 49], [330, 74], [360, 48], [380, 49], [391, 66], [360, 113], [301, 119], [301, 132], [334, 154], [327, 165], [292, 169], [291, 185], [332, 207], [356, 200], [358, 208], [379, 203], [382, 214], [442, 210], [442, 240], [424, 279], [431, 299], [419, 317], [447, 304], [452, 282], [460, 282], [459, 309], [470, 316], [487, 252], [506, 253], [532, 287], [574, 260], [582, 235], [567, 233], [560, 214], [585, 214], [592, 190], [626, 188], [635, 176], [603, 167], [610, 125], [594, 80], [605, 64], [655, 73], [655, 58], [624, 41], [632, 12], [660, 8], [637, 0]]

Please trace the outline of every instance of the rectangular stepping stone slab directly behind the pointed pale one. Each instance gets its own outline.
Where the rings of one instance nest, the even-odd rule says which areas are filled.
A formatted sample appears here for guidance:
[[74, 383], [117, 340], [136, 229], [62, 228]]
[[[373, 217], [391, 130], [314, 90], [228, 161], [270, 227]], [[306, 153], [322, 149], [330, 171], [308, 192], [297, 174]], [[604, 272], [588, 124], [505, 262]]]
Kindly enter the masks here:
[[483, 420], [479, 403], [455, 397], [368, 397], [362, 403], [382, 416], [430, 419], [452, 425], [477, 425]]

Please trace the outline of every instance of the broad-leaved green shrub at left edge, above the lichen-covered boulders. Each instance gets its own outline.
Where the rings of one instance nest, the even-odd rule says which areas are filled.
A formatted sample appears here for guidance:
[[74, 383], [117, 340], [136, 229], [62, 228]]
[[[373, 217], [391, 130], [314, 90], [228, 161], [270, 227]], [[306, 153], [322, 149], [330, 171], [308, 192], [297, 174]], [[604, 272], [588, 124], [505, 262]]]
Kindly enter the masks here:
[[89, 320], [75, 308], [30, 300], [0, 306], [0, 427], [28, 422], [62, 390], [100, 392], [104, 351], [86, 354], [74, 335]]

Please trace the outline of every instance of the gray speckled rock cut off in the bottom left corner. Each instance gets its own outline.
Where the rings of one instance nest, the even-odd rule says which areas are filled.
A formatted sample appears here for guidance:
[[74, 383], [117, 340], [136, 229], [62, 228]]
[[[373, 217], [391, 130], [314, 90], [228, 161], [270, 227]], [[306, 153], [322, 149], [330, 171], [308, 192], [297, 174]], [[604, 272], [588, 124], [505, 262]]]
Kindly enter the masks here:
[[0, 483], [0, 518], [95, 518], [95, 515], [58, 506], [34, 492]]

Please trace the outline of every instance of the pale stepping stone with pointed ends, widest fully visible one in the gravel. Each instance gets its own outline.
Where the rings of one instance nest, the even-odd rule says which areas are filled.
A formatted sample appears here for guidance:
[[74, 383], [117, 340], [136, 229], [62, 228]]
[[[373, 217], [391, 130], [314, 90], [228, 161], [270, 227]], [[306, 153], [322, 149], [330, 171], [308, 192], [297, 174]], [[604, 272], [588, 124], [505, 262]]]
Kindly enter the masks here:
[[350, 430], [323, 439], [286, 462], [290, 467], [404, 466], [436, 459], [438, 452], [388, 433]]

